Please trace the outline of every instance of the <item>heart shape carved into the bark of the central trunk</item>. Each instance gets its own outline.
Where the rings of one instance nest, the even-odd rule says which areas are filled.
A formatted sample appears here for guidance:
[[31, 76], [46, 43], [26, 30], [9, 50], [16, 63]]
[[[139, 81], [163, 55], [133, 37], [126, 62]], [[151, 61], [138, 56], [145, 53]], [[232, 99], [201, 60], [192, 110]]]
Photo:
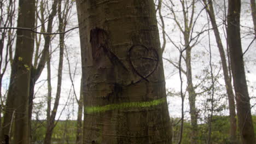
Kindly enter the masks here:
[[155, 49], [148, 49], [144, 45], [133, 45], [128, 52], [128, 57], [132, 70], [141, 77], [135, 83], [142, 79], [148, 81], [147, 77], [152, 75], [158, 68], [159, 57]]

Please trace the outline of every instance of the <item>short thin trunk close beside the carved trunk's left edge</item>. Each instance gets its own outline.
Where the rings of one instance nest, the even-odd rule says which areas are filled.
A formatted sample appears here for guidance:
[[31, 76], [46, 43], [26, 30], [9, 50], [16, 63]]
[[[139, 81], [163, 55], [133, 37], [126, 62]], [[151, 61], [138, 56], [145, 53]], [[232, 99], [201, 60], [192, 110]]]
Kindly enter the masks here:
[[77, 116], [77, 144], [83, 143], [83, 125], [82, 125], [82, 114], [83, 114], [83, 78], [80, 84], [80, 98], [78, 101], [78, 116]]

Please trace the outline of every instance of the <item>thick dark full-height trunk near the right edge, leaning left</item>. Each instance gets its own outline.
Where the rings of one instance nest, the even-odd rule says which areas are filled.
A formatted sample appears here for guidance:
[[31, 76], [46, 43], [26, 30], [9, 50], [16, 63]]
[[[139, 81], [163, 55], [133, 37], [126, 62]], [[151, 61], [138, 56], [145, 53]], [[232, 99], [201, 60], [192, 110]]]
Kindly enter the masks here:
[[236, 95], [238, 128], [242, 143], [255, 143], [240, 37], [241, 1], [229, 0], [228, 8], [228, 43]]

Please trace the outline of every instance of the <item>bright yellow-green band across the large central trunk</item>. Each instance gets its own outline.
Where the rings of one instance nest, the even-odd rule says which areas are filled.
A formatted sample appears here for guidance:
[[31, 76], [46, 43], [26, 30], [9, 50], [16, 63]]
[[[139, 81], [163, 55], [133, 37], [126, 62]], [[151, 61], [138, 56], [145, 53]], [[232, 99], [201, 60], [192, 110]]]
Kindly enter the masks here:
[[142, 102], [131, 102], [131, 103], [121, 103], [121, 104], [110, 104], [104, 106], [90, 106], [85, 107], [85, 113], [101, 113], [110, 110], [120, 110], [129, 109], [135, 107], [150, 107], [162, 104], [166, 101], [166, 98], [161, 98], [153, 101], [142, 101]]

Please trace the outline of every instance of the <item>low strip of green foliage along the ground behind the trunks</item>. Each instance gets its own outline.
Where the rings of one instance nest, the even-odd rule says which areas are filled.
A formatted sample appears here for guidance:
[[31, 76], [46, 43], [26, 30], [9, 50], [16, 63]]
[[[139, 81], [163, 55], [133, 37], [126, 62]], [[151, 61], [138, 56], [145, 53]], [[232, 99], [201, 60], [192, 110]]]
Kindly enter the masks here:
[[[173, 142], [179, 140], [180, 123], [179, 118], [172, 119], [173, 126]], [[178, 123], [178, 124], [177, 124]], [[256, 133], [256, 116], [253, 116], [254, 131]], [[77, 121], [59, 121], [53, 131], [53, 141], [57, 143], [74, 143]], [[213, 144], [230, 143], [229, 141], [229, 116], [213, 116], [211, 139]], [[199, 124], [198, 144], [207, 143], [208, 140], [208, 124]], [[32, 121], [32, 141], [42, 143], [45, 137], [46, 122]], [[182, 143], [190, 143], [191, 125], [190, 121], [184, 121]]]

